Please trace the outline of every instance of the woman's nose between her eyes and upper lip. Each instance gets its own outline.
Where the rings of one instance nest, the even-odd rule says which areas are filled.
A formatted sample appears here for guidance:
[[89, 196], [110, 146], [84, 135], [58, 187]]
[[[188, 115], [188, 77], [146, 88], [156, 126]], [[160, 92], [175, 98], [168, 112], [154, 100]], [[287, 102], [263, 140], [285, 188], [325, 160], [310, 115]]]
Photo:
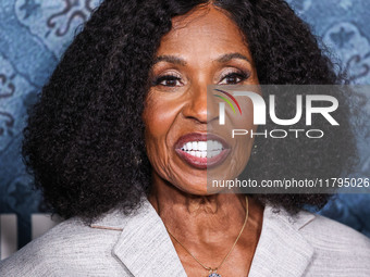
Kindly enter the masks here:
[[219, 118], [218, 109], [213, 99], [211, 85], [197, 84], [188, 91], [187, 103], [184, 105], [183, 115], [198, 123], [208, 124]]

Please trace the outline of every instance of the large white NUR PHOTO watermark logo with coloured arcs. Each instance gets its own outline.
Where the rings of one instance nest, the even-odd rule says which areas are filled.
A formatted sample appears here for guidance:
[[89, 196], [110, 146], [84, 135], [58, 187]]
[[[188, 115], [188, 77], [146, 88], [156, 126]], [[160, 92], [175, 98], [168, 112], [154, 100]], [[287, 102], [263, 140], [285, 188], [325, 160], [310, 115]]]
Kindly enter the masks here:
[[[299, 134], [305, 133], [307, 138], [317, 139], [322, 138], [324, 131], [318, 128], [311, 129], [312, 126], [323, 126], [324, 123], [330, 126], [340, 126], [334, 118], [335, 111], [340, 106], [338, 100], [334, 97], [336, 87], [245, 85], [211, 86], [210, 88], [209, 104], [210, 106], [218, 105], [218, 124], [219, 126], [230, 125], [232, 138], [235, 136], [250, 136], [251, 138], [261, 136], [273, 139], [294, 136], [298, 138]], [[214, 102], [214, 97], [221, 101]], [[227, 121], [226, 116], [229, 119], [233, 116], [238, 124], [235, 121]], [[282, 127], [271, 129], [267, 126], [266, 129], [259, 128], [257, 133], [250, 127], [245, 129], [244, 126], [249, 125], [240, 124], [244, 119], [248, 124], [252, 122], [255, 126], [267, 126], [268, 122], [271, 122], [274, 126]]]

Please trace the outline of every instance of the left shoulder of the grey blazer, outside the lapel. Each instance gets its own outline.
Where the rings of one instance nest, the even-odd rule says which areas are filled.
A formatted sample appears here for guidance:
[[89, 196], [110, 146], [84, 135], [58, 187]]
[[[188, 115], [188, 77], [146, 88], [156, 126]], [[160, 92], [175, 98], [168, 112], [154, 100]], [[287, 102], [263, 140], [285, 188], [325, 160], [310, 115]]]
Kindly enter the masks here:
[[120, 234], [67, 219], [1, 261], [0, 276], [81, 276], [87, 268], [94, 276], [107, 276], [104, 268], [118, 266], [111, 250]]

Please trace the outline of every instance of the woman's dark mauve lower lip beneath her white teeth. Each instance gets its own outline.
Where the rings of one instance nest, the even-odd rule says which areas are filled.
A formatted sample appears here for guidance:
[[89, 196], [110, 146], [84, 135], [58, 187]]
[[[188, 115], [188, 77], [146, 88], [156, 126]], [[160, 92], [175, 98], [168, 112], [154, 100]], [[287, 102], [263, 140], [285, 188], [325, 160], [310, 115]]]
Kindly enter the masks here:
[[212, 168], [212, 167], [215, 167], [222, 164], [226, 160], [230, 153], [230, 149], [224, 149], [221, 151], [220, 154], [212, 156], [212, 158], [194, 156], [194, 155], [186, 153], [185, 151], [182, 151], [181, 149], [176, 149], [176, 153], [188, 165], [195, 168], [199, 168], [199, 169], [207, 169], [207, 168]]

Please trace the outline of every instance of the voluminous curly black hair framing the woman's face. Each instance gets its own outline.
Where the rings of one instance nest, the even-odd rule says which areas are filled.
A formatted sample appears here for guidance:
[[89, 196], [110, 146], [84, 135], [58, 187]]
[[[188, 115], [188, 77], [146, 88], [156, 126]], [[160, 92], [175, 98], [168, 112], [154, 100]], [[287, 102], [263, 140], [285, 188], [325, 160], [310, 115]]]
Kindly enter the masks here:
[[[53, 212], [88, 221], [113, 207], [127, 214], [150, 192], [141, 114], [155, 53], [173, 16], [207, 5], [223, 11], [245, 35], [260, 84], [342, 81], [310, 27], [283, 0], [106, 0], [63, 54], [24, 130], [25, 163]], [[335, 113], [341, 128], [317, 140], [257, 139], [258, 154], [248, 164], [252, 176], [349, 172], [357, 158], [350, 100], [336, 98], [344, 106]], [[295, 98], [282, 97], [276, 105], [289, 118], [285, 111]], [[324, 123], [318, 127], [328, 130]], [[328, 201], [326, 194], [254, 197], [292, 213]]]

